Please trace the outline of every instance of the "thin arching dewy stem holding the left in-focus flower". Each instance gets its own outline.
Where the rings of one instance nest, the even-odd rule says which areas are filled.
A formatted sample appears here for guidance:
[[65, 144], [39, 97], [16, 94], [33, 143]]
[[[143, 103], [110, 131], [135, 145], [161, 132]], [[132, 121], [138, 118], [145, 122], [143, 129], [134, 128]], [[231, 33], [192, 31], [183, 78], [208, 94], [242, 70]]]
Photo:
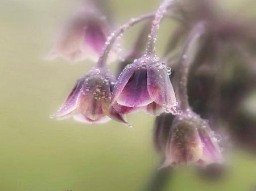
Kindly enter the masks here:
[[109, 52], [115, 43], [115, 40], [118, 39], [118, 37], [126, 31], [126, 29], [132, 27], [134, 24], [141, 22], [142, 20], [145, 19], [150, 19], [153, 18], [155, 13], [148, 13], [144, 14], [142, 16], [139, 16], [138, 18], [133, 18], [129, 22], [123, 24], [121, 27], [119, 27], [115, 32], [113, 32], [109, 37], [108, 40], [106, 41], [106, 45], [104, 47], [103, 53], [98, 59], [97, 65], [98, 67], [103, 67], [106, 64], [106, 60], [108, 59]]

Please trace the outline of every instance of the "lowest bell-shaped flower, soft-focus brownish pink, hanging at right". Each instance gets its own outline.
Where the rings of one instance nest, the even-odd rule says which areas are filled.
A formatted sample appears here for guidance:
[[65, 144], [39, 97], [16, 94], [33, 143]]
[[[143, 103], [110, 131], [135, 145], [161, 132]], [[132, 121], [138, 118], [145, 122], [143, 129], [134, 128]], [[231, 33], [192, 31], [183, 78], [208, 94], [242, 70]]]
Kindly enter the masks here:
[[199, 116], [175, 118], [167, 143], [166, 161], [162, 167], [179, 164], [221, 164], [221, 148], [208, 122]]

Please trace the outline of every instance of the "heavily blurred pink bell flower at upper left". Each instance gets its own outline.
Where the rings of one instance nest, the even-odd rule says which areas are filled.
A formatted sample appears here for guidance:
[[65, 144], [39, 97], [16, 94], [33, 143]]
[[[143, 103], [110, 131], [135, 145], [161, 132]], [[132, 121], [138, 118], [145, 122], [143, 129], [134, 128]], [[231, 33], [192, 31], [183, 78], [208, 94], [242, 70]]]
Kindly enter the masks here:
[[96, 61], [109, 31], [105, 16], [96, 7], [81, 7], [57, 36], [49, 58], [63, 57], [68, 61], [90, 58]]

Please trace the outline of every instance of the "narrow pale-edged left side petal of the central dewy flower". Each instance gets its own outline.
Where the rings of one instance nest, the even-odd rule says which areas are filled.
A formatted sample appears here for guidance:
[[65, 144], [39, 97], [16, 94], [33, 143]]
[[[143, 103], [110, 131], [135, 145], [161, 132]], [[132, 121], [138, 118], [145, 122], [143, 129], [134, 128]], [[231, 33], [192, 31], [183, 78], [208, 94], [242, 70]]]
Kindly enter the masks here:
[[131, 78], [136, 69], [137, 66], [133, 63], [127, 65], [125, 69], [123, 69], [122, 73], [119, 75], [117, 79], [117, 83], [115, 83], [111, 104], [114, 104], [115, 101], [118, 99], [119, 95], [123, 91], [123, 88], [125, 88], [127, 82], [129, 81], [129, 79]]

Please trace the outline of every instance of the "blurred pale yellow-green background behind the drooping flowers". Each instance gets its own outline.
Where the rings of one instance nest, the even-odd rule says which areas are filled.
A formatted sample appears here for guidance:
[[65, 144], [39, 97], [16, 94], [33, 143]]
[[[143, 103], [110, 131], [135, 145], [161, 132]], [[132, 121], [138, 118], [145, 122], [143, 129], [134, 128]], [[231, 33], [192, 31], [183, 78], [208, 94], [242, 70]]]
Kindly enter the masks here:
[[[108, 1], [105, 8], [110, 9], [115, 27], [156, 10], [160, 3], [159, 0]], [[148, 114], [130, 114], [128, 119], [133, 128], [115, 121], [89, 125], [72, 119], [49, 118], [63, 103], [76, 79], [93, 66], [91, 61], [73, 65], [61, 59], [45, 59], [56, 31], [79, 3], [1, 0], [1, 190], [143, 190], [159, 164], [152, 143], [154, 117]], [[219, 4], [228, 14], [256, 18], [255, 1], [225, 0]], [[160, 55], [166, 44], [164, 34], [174, 28], [175, 22], [163, 22], [158, 40]], [[123, 36], [123, 54], [138, 31], [136, 26]], [[256, 96], [250, 96], [247, 108], [254, 119], [255, 104]], [[246, 141], [246, 135], [243, 136]], [[255, 134], [253, 137], [255, 141]], [[200, 179], [193, 168], [174, 169], [168, 190], [256, 190], [256, 155], [251, 148], [255, 147], [235, 145], [228, 157], [228, 173], [217, 182]]]

